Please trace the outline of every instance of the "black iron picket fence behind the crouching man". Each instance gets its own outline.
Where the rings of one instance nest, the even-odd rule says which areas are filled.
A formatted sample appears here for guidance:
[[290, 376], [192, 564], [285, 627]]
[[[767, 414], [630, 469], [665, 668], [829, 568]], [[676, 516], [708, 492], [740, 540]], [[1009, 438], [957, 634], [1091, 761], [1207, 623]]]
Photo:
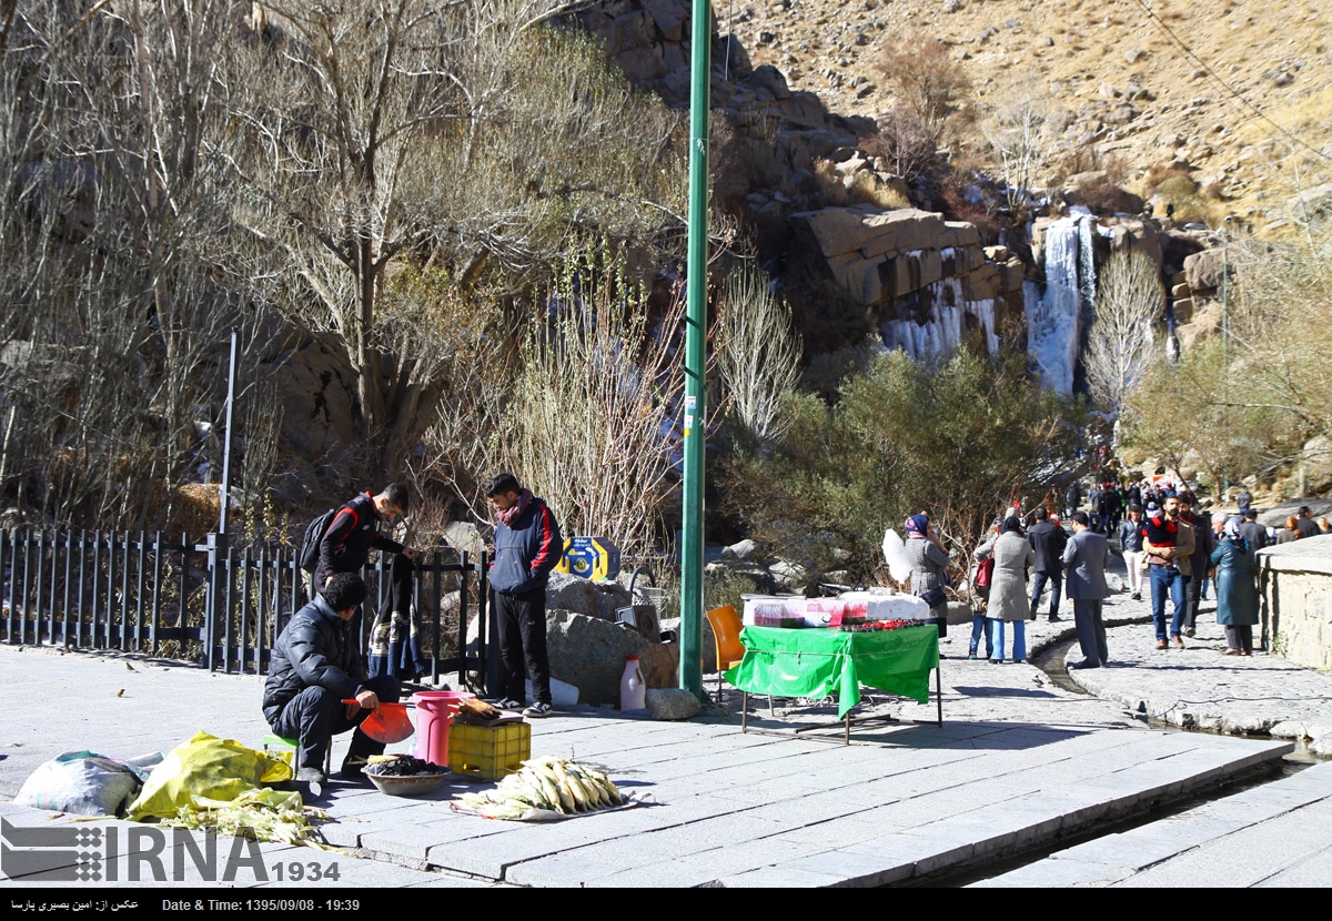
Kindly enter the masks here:
[[[416, 559], [418, 639], [441, 673], [488, 675], [485, 554], [436, 550]], [[389, 564], [365, 567], [374, 610], [386, 603]], [[213, 671], [264, 673], [282, 627], [308, 600], [292, 547], [233, 547], [224, 534], [105, 531], [0, 532], [4, 642], [116, 649], [181, 659]], [[469, 649], [468, 626], [478, 638]], [[360, 619], [366, 648], [372, 618]]]

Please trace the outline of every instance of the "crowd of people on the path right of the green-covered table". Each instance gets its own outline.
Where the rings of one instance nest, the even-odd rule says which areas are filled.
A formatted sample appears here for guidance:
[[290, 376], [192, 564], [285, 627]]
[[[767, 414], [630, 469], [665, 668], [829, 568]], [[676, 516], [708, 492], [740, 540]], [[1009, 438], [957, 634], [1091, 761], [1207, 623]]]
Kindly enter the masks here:
[[[1224, 653], [1252, 655], [1253, 626], [1259, 623], [1256, 552], [1273, 543], [1267, 528], [1257, 523], [1257, 512], [1245, 503], [1239, 515], [1213, 516], [1196, 510], [1196, 499], [1188, 491], [1134, 486], [1126, 491], [1130, 500], [1123, 518], [1116, 520], [1119, 510], [1114, 502], [1107, 506], [1104, 496], [1118, 496], [1119, 491], [1112, 484], [1095, 488], [1100, 515], [1076, 507], [1080, 490], [1064, 494], [1074, 504], [1067, 512], [1072, 534], [1044, 504], [1031, 514], [1030, 528], [1016, 506], [994, 522], [972, 554], [972, 587], [983, 604], [972, 616], [968, 657], [980, 659], [983, 644], [983, 657], [991, 663], [1024, 661], [1026, 623], [1036, 619], [1048, 588], [1050, 620], [1060, 620], [1064, 596], [1072, 603], [1083, 657], [1070, 663], [1070, 668], [1108, 664], [1102, 608], [1111, 594], [1106, 578], [1111, 554], [1124, 559], [1131, 598], [1142, 600], [1144, 591], [1151, 594], [1158, 649], [1184, 648], [1184, 638], [1196, 632], [1207, 584], [1215, 582], [1216, 620], [1227, 638]], [[1139, 500], [1146, 500], [1146, 507]], [[1301, 516], [1312, 518], [1305, 510]], [[1112, 520], [1116, 527], [1110, 530]], [[1110, 535], [1102, 532], [1107, 530]], [[932, 536], [924, 514], [908, 518], [906, 531], [912, 592], [930, 603], [944, 635], [948, 555]]]

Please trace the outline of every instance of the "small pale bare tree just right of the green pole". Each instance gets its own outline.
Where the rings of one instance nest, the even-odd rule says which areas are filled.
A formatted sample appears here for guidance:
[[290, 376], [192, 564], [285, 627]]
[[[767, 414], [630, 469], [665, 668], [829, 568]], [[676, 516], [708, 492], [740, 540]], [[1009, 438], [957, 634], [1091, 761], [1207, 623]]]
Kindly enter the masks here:
[[781, 401], [801, 375], [801, 334], [791, 309], [753, 262], [726, 277], [719, 306], [717, 370], [723, 399], [751, 437], [767, 442], [781, 435]]

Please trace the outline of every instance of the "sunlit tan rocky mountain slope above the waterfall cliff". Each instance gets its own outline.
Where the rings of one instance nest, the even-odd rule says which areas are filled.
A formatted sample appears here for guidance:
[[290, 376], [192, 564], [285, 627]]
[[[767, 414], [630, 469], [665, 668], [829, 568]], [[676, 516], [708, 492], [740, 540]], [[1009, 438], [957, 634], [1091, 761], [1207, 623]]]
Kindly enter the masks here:
[[983, 161], [995, 113], [1031, 100], [1046, 116], [1038, 182], [1111, 164], [1150, 193], [1152, 168], [1184, 169], [1209, 204], [1200, 213], [1261, 233], [1281, 225], [1297, 185], [1332, 174], [1328, 0], [719, 0], [715, 11], [755, 67], [844, 116], [892, 106], [884, 39], [939, 39], [972, 88], [959, 148]]

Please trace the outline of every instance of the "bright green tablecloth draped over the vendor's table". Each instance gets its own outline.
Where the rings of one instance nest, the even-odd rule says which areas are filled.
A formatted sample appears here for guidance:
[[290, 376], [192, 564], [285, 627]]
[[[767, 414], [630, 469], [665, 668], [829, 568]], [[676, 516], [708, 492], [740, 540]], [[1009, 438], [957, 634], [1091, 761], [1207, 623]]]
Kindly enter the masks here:
[[838, 719], [860, 703], [860, 685], [930, 703], [939, 667], [939, 630], [904, 627], [851, 634], [832, 628], [741, 631], [745, 660], [726, 672], [733, 687], [774, 697], [838, 696]]

